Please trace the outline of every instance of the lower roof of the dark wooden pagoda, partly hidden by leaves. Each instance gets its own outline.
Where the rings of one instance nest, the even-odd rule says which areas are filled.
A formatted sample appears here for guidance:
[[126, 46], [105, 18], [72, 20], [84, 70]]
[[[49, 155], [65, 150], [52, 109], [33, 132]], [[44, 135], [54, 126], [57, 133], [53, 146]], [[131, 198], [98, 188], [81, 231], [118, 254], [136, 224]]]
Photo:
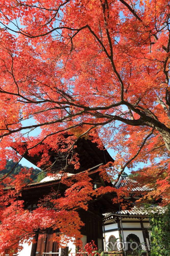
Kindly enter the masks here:
[[[83, 173], [85, 173], [85, 171], [79, 174], [72, 174], [71, 176], [68, 176], [66, 179], [75, 181], [76, 177]], [[93, 184], [93, 186], [97, 185], [97, 188], [101, 186], [103, 187], [112, 186], [111, 182], [103, 181], [103, 179], [100, 177], [100, 169], [89, 170], [88, 176], [91, 178], [91, 183]], [[64, 196], [64, 193], [68, 188], [68, 186], [61, 183], [60, 179], [31, 183], [22, 188], [20, 199], [24, 200], [25, 209], [31, 210], [36, 207], [37, 202], [40, 200], [40, 198], [43, 198], [45, 195], [51, 192], [51, 189], [58, 191], [58, 188], [61, 196]], [[4, 190], [7, 190], [7, 189], [15, 189], [15, 188], [6, 187]], [[95, 186], [94, 186], [94, 189], [95, 189]], [[95, 205], [95, 209], [99, 209], [100, 214], [103, 214], [109, 211], [114, 211], [118, 209], [118, 205], [113, 204], [112, 202], [112, 199], [115, 196], [116, 196], [116, 193], [105, 193], [99, 196], [98, 198], [96, 198], [95, 200], [89, 201], [88, 204], [90, 205], [90, 207], [94, 207]]]

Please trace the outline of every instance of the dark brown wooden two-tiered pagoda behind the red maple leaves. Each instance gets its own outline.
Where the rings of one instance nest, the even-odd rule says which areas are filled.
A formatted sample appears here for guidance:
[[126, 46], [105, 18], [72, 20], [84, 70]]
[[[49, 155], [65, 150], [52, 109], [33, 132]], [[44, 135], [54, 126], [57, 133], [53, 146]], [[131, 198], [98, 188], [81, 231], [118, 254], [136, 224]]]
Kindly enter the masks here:
[[[103, 148], [100, 150], [97, 147], [96, 143], [92, 143], [90, 140], [81, 138], [77, 143], [76, 152], [79, 154], [80, 158], [80, 168], [75, 170], [71, 165], [67, 167], [68, 179], [74, 181], [76, 176], [89, 170], [88, 175], [91, 178], [91, 183], [93, 184], [94, 189], [101, 186], [112, 186], [111, 182], [106, 182], [100, 177], [99, 166], [106, 164], [108, 162], [114, 162], [113, 158], [109, 153]], [[36, 155], [30, 157], [27, 155], [25, 157], [34, 165], [37, 165], [40, 162], [41, 155]], [[60, 161], [61, 160], [61, 161]], [[50, 152], [50, 161], [55, 162], [55, 153]], [[53, 165], [53, 173], [58, 173], [62, 166], [65, 164], [65, 159], [61, 157], [59, 161]], [[48, 168], [48, 163], [46, 166], [41, 166], [41, 168]], [[51, 172], [51, 171], [50, 171]], [[59, 187], [60, 186], [60, 187]], [[45, 195], [51, 192], [53, 188], [55, 191], [60, 190], [61, 196], [64, 196], [64, 192], [68, 188], [65, 184], [60, 183], [60, 179], [53, 177], [45, 177], [39, 183], [32, 183], [27, 185], [22, 189], [22, 199], [25, 202], [25, 209], [30, 211], [37, 207], [37, 203], [40, 198], [43, 198]], [[79, 210], [79, 216], [85, 226], [81, 228], [81, 234], [83, 246], [87, 242], [94, 240], [99, 249], [104, 249], [103, 244], [103, 214], [110, 211], [115, 211], [118, 209], [118, 205], [112, 203], [112, 198], [116, 194], [104, 194], [98, 200], [89, 202], [88, 210]], [[56, 242], [53, 242], [51, 237], [53, 236], [53, 229], [47, 229], [44, 236], [40, 239], [38, 237], [41, 233], [36, 233], [34, 239], [36, 243], [28, 246], [24, 244], [23, 250], [18, 254], [19, 256], [42, 256], [42, 255], [58, 255], [67, 256], [69, 253], [75, 253], [75, 246], [72, 243], [68, 243], [66, 248], [58, 248]]]

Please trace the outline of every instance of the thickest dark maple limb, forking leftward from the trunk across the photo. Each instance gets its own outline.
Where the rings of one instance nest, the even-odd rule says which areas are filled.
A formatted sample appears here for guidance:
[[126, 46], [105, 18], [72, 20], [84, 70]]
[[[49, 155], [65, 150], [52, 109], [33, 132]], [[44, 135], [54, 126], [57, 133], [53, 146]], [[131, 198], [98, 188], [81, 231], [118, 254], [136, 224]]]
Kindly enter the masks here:
[[[99, 39], [100, 40], [100, 39]], [[18, 93], [10, 93], [10, 92], [6, 92], [4, 90], [1, 90], [0, 92], [2, 93], [9, 93], [9, 94], [13, 94], [13, 95], [17, 95], [19, 97], [22, 97], [24, 98], [25, 100], [29, 100], [30, 103], [35, 103], [35, 101], [32, 101], [30, 99], [27, 99], [25, 98], [24, 96], [22, 95], [18, 95]], [[63, 91], [61, 91], [61, 93], [63, 93]], [[70, 95], [65, 93], [65, 95], [67, 97], [70, 98]], [[64, 96], [64, 95], [63, 95]], [[71, 101], [70, 101], [71, 100]], [[77, 115], [81, 115], [83, 113], [90, 113], [90, 115], [93, 115], [93, 116], [96, 116], [96, 117], [102, 117], [102, 118], [107, 118], [107, 119], [110, 119], [110, 120], [118, 120], [118, 121], [121, 121], [121, 122], [124, 122], [126, 124], [130, 124], [130, 125], [147, 125], [147, 126], [150, 126], [152, 127], [153, 125], [155, 125], [156, 127], [158, 127], [158, 129], [161, 129], [163, 131], [166, 131], [169, 133], [169, 128], [166, 127], [163, 123], [159, 122], [158, 121], [158, 118], [148, 109], [144, 109], [143, 107], [139, 106], [139, 105], [133, 105], [133, 104], [130, 104], [129, 102], [126, 102], [126, 101], [120, 101], [120, 102], [117, 102], [117, 103], [113, 103], [109, 106], [98, 106], [98, 107], [88, 107], [88, 106], [84, 106], [84, 105], [80, 105], [80, 104], [76, 104], [75, 101], [73, 101], [72, 98], [70, 98], [70, 100], [67, 100], [67, 101], [53, 101], [53, 100], [42, 100], [42, 101], [37, 101], [36, 103], [40, 103], [40, 102], [53, 102], [53, 103], [56, 103], [56, 104], [59, 104], [59, 108], [60, 109], [64, 109], [66, 108], [66, 106], [61, 106], [61, 104], [68, 104], [68, 105], [72, 105], [72, 106], [76, 106], [78, 108], [83, 108], [82, 111], [79, 111], [78, 113], [76, 114], [69, 114], [67, 116], [64, 116], [63, 118], [60, 118], [58, 120], [55, 120], [55, 121], [51, 121], [51, 122], [45, 122], [45, 123], [41, 123], [41, 124], [37, 124], [37, 125], [32, 125], [32, 126], [25, 126], [25, 127], [20, 127], [16, 130], [10, 130], [8, 129], [8, 132], [1, 135], [0, 137], [4, 137], [4, 136], [7, 136], [9, 134], [12, 134], [12, 133], [16, 133], [18, 131], [21, 131], [23, 129], [32, 129], [32, 128], [36, 128], [36, 127], [40, 127], [40, 126], [43, 126], [43, 125], [49, 125], [49, 124], [54, 124], [54, 123], [57, 123], [57, 122], [63, 122], [64, 120], [67, 120], [71, 117], [74, 117], [74, 116], [77, 116]], [[139, 99], [140, 100], [140, 99]], [[128, 120], [128, 119], [123, 119], [121, 118], [120, 116], [117, 116], [117, 115], [109, 115], [109, 114], [101, 114], [100, 112], [97, 112], [97, 110], [107, 110], [109, 108], [113, 108], [115, 106], [119, 106], [121, 104], [125, 104], [127, 105], [127, 107], [131, 110], [133, 110], [134, 112], [136, 112], [137, 114], [139, 114], [141, 116], [140, 119], [138, 120]], [[58, 108], [58, 107], [57, 107]], [[143, 111], [140, 111], [139, 108], [141, 108], [142, 110], [144, 110], [145, 112]], [[95, 112], [91, 112], [91, 111], [95, 111]], [[146, 115], [146, 113], [148, 113], [148, 115]], [[89, 124], [89, 123], [88, 123]], [[92, 123], [90, 123], [90, 125], [93, 125]]]

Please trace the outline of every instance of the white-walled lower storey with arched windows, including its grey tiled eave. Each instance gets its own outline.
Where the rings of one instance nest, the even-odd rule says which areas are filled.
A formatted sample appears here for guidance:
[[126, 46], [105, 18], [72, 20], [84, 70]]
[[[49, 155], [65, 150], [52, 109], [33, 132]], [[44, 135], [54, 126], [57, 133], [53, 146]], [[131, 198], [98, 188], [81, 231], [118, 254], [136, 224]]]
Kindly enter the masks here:
[[[134, 207], [131, 211], [106, 214], [103, 228], [104, 250], [131, 251], [140, 245], [139, 249], [145, 249], [148, 255], [150, 245], [148, 228], [149, 219], [144, 209]], [[130, 241], [134, 243], [131, 244]]]

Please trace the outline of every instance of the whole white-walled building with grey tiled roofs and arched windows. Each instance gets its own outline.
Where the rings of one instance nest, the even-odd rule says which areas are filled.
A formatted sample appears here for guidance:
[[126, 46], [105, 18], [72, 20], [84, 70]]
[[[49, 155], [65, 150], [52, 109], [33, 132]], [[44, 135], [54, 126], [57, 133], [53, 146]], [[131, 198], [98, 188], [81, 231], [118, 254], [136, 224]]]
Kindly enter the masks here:
[[[128, 175], [123, 172], [116, 187], [134, 184], [129, 197], [126, 200], [134, 202], [142, 197], [142, 193], [150, 190], [143, 186], [138, 187], [136, 182], [131, 180]], [[137, 194], [137, 196], [135, 195]], [[105, 251], [132, 251], [139, 246], [146, 252], [143, 255], [149, 255], [150, 252], [150, 226], [149, 214], [144, 207], [134, 206], [131, 210], [121, 210], [107, 212], [103, 215], [103, 234], [104, 234], [104, 250]], [[131, 241], [134, 243], [131, 244]]]

